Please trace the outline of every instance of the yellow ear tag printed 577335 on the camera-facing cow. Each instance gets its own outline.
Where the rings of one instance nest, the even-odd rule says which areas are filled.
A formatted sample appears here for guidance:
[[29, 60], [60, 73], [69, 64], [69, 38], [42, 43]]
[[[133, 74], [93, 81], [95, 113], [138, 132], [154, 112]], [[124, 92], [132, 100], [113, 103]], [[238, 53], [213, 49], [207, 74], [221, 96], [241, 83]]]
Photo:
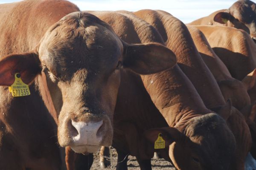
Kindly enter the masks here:
[[19, 73], [15, 74], [15, 81], [11, 87], [9, 87], [9, 91], [14, 97], [30, 95], [29, 86], [21, 80]]

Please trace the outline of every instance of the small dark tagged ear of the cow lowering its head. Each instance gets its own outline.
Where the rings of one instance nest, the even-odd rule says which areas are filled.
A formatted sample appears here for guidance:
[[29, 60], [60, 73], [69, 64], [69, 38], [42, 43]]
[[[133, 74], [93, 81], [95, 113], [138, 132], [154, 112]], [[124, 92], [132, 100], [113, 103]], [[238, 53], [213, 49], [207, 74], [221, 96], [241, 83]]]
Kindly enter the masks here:
[[175, 127], [161, 127], [149, 129], [145, 131], [144, 136], [151, 143], [154, 143], [157, 140], [159, 133], [161, 133], [163, 140], [165, 140], [165, 147], [169, 147], [172, 142], [180, 141], [180, 139], [182, 139], [182, 136], [184, 136], [184, 134], [177, 130]]

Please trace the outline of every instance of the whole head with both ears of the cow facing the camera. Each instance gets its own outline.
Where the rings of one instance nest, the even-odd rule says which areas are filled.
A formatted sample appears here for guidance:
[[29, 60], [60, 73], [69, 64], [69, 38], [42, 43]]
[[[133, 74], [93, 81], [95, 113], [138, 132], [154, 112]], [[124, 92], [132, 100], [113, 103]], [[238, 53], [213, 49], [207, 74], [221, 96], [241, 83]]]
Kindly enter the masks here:
[[35, 52], [4, 57], [0, 85], [12, 85], [17, 72], [27, 84], [44, 75], [36, 84], [44, 101], [48, 91], [54, 105], [59, 144], [94, 152], [112, 143], [119, 69], [151, 74], [175, 63], [175, 54], [163, 45], [126, 44], [99, 18], [75, 12], [49, 28]]

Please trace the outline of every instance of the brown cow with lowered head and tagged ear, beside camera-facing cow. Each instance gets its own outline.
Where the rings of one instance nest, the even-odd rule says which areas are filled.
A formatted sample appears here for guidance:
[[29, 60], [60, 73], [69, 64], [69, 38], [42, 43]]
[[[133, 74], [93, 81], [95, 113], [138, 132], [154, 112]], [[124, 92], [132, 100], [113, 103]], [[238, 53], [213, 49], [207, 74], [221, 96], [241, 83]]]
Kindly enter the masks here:
[[[91, 13], [107, 23], [110, 23], [119, 37], [122, 37], [123, 40], [128, 42], [132, 41], [134, 43], [152, 41], [162, 41], [163, 43], [162, 38], [152, 26], [139, 20], [128, 12]], [[128, 73], [126, 72], [126, 74]], [[136, 82], [136, 79], [131, 80], [133, 81], [127, 81], [126, 84], [124, 84], [125, 87], [122, 86], [121, 81], [121, 90], [119, 93], [122, 93], [122, 95], [120, 95], [122, 98], [120, 98], [123, 99], [123, 102], [119, 103], [119, 98], [117, 99], [114, 115], [115, 123], [118, 122], [116, 121], [117, 116], [121, 119], [119, 120], [120, 124], [115, 126], [117, 132], [114, 133], [114, 135], [120, 136], [119, 138], [113, 138], [113, 144], [116, 144], [115, 147], [122, 148], [122, 150], [126, 149], [126, 153], [137, 156], [137, 159], [139, 157], [141, 159], [139, 160], [140, 165], [145, 164], [144, 167], [141, 167], [141, 169], [144, 170], [149, 169], [148, 164], [150, 163], [150, 158], [153, 156], [153, 145], [146, 143], [143, 143], [144, 145], [142, 145], [141, 143], [145, 141], [145, 139], [143, 139], [143, 136], [141, 136], [140, 133], [152, 126], [150, 125], [152, 124], [152, 120], [154, 121], [154, 124], [157, 124], [157, 116], [151, 116], [151, 114], [146, 112], [144, 112], [146, 113], [145, 115], [142, 114], [143, 112], [134, 113], [134, 107], [131, 108], [130, 103], [134, 103], [134, 105], [137, 106], [136, 108], [139, 109], [141, 109], [140, 107], [143, 107], [143, 105], [141, 102], [138, 102], [137, 99], [134, 99], [135, 96], [137, 98], [137, 96], [141, 95], [137, 95], [136, 93], [139, 90], [134, 90], [133, 88], [142, 88], [142, 82], [140, 82], [140, 79]], [[201, 166], [202, 169], [205, 170], [227, 169], [233, 154], [232, 150], [234, 150], [235, 147], [233, 134], [220, 116], [205, 107], [197, 91], [189, 79], [180, 70], [179, 66], [176, 65], [168, 71], [154, 74], [149, 77], [143, 76], [142, 80], [152, 101], [170, 126], [167, 128], [170, 134], [168, 136], [172, 136], [174, 141], [177, 142], [176, 145], [174, 144], [176, 143], [174, 141], [172, 141], [174, 142], [172, 144], [167, 144], [168, 146], [170, 144], [169, 156], [175, 167], [182, 170], [198, 170], [198, 166]], [[133, 85], [133, 83], [135, 83], [135, 85]], [[132, 88], [132, 90], [130, 90], [130, 88]], [[135, 91], [135, 94], [133, 91]], [[129, 95], [134, 95], [130, 96], [131, 101], [128, 100]], [[138, 100], [140, 101], [140, 98]], [[145, 100], [143, 100], [143, 102], [145, 102]], [[228, 111], [224, 111], [228, 116], [230, 114], [229, 109], [227, 109]], [[226, 116], [226, 118], [228, 116]], [[130, 119], [125, 120], [125, 117]], [[137, 121], [138, 119], [140, 121]], [[212, 126], [212, 123], [216, 126]], [[186, 129], [189, 129], [189, 133], [186, 132]], [[208, 135], [211, 137], [208, 138]], [[194, 136], [197, 137], [194, 138]], [[215, 141], [215, 139], [220, 140]], [[121, 142], [124, 140], [126, 142]], [[209, 140], [211, 142], [209, 142]], [[215, 142], [213, 142], [213, 140]], [[250, 140], [248, 141], [246, 139], [246, 141], [249, 142], [250, 146]], [[209, 145], [209, 143], [212, 143], [212, 145]], [[117, 144], [119, 144], [119, 146]], [[138, 148], [140, 149], [138, 150]], [[208, 154], [209, 157], [207, 156]], [[125, 156], [125, 154], [123, 155]], [[219, 156], [221, 156], [221, 158]], [[213, 159], [210, 159], [210, 157]], [[165, 158], [168, 160], [166, 154]]]

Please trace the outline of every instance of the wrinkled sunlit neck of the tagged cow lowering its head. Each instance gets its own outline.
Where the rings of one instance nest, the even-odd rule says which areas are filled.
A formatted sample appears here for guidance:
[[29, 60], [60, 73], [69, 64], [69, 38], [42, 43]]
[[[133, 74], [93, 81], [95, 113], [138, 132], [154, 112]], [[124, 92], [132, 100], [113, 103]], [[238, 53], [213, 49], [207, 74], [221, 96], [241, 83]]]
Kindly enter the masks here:
[[142, 76], [142, 80], [169, 126], [173, 127], [194, 116], [211, 112], [177, 65], [158, 74]]

